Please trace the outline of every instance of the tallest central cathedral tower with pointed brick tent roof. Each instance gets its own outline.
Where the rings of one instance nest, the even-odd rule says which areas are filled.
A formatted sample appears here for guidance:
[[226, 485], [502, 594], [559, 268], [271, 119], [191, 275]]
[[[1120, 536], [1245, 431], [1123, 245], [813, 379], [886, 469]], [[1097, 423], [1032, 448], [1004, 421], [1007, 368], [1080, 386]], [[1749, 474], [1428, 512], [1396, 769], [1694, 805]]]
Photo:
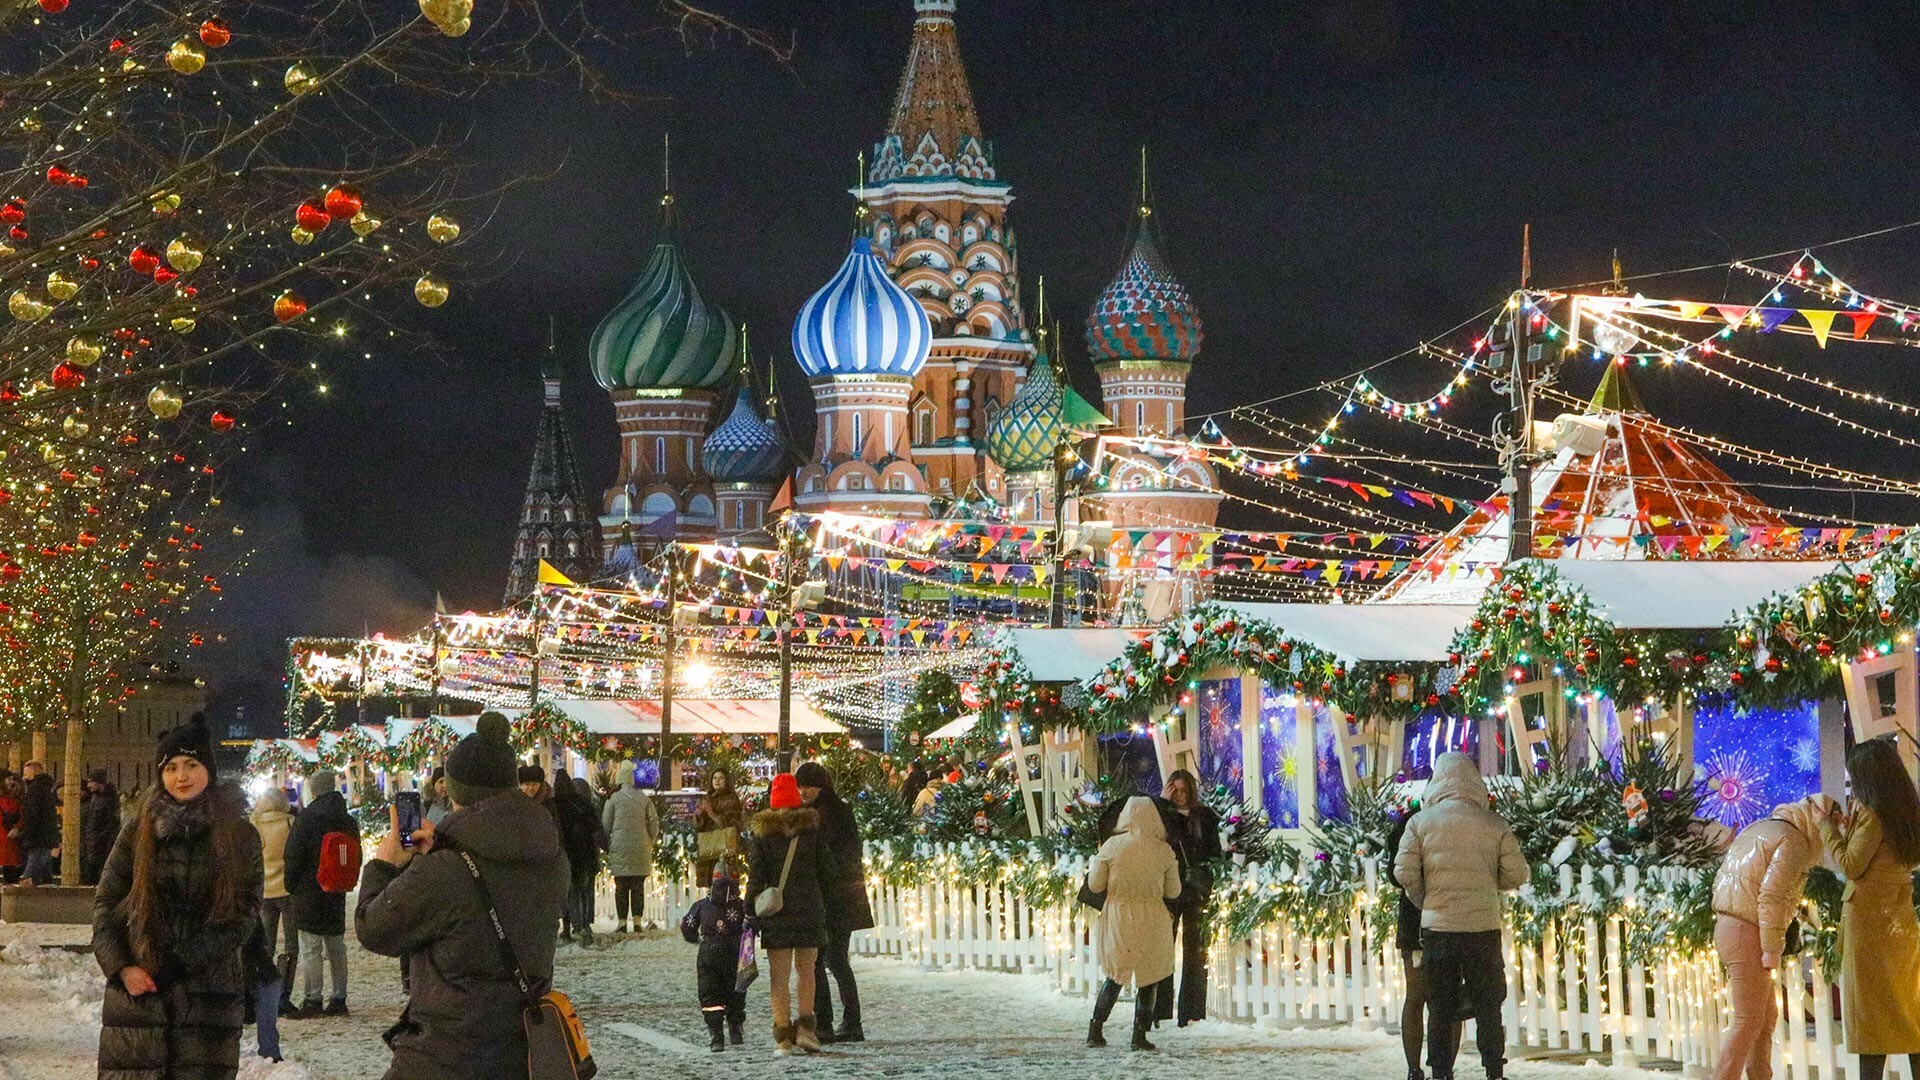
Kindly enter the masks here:
[[933, 496], [1004, 496], [985, 452], [1033, 357], [1020, 307], [1012, 192], [981, 135], [954, 29], [958, 0], [914, 0], [914, 38], [887, 133], [852, 188], [887, 273], [933, 325], [908, 402], [912, 457]]

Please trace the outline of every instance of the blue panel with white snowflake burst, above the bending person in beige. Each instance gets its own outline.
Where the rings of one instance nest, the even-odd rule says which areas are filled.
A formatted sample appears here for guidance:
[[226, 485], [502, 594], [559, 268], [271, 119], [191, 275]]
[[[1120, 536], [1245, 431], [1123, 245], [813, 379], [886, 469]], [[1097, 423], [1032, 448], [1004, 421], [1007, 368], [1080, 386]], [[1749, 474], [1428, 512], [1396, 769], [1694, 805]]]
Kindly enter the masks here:
[[1820, 790], [1820, 705], [1701, 701], [1693, 709], [1693, 763], [1701, 815], [1745, 828]]

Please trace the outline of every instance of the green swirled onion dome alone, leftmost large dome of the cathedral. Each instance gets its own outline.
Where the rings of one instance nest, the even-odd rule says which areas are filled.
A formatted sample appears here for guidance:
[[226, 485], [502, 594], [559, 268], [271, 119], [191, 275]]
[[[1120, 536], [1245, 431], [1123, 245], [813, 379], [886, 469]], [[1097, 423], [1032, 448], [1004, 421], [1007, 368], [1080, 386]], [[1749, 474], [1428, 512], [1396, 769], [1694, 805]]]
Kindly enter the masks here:
[[733, 379], [733, 319], [701, 300], [680, 250], [653, 248], [653, 259], [601, 325], [588, 356], [607, 390], [712, 390]]

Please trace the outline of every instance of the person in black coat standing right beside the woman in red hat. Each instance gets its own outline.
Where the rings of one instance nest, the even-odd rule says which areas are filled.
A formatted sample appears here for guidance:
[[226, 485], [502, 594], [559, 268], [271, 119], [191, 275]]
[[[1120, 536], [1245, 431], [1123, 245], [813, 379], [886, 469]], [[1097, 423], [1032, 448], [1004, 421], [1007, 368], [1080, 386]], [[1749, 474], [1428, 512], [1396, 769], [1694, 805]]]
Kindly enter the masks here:
[[[866, 853], [860, 844], [860, 824], [852, 807], [833, 790], [833, 776], [816, 761], [801, 765], [793, 778], [801, 784], [801, 801], [820, 813], [820, 838], [828, 849], [826, 899], [828, 940], [814, 961], [814, 1017], [820, 1022], [820, 1042], [866, 1042], [860, 1026], [860, 986], [852, 978], [849, 947], [854, 930], [874, 926], [874, 903], [866, 897]], [[828, 994], [828, 972], [841, 992], [841, 1026], [833, 1030], [833, 997]]]

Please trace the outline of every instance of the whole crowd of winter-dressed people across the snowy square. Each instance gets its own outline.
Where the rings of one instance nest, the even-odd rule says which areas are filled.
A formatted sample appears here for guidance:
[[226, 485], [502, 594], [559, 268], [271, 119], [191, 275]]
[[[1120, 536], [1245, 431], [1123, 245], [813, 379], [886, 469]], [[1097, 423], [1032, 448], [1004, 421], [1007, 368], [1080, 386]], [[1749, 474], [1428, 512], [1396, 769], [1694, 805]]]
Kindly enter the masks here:
[[[359, 944], [397, 957], [407, 988], [384, 1036], [394, 1055], [388, 1076], [524, 1074], [522, 1011], [553, 990], [557, 947], [591, 942], [603, 859], [618, 930], [643, 922], [645, 878], [660, 844], [655, 799], [632, 773], [605, 798], [586, 780], [549, 780], [518, 761], [497, 715], [434, 771], [420, 826], [403, 834], [390, 807], [390, 828], [365, 861], [359, 822], [328, 771], [307, 778], [303, 807], [278, 788], [248, 807], [236, 786], [219, 782], [200, 717], [159, 738], [156, 765], [159, 782], [125, 822], [115, 803], [113, 836], [98, 861], [92, 846], [83, 853], [98, 874], [94, 957], [108, 980], [102, 1076], [234, 1076], [246, 1024], [257, 1024], [259, 1055], [278, 1059], [278, 1020], [348, 1015], [353, 892]], [[954, 771], [947, 765], [899, 773], [897, 796], [922, 801]], [[1912, 905], [1920, 792], [1887, 742], [1857, 746], [1847, 767], [1849, 805], [1824, 796], [1782, 805], [1726, 849], [1713, 907], [1732, 1024], [1716, 1080], [1770, 1080], [1768, 970], [1799, 947], [1795, 913], [1822, 855], [1849, 882], [1839, 986], [1859, 1074], [1880, 1080], [1887, 1055], [1908, 1055], [1920, 1068]], [[48, 844], [29, 813], [25, 796], [52, 794], [44, 769], [29, 773], [19, 796], [0, 794], [0, 821], [31, 874], [44, 872], [58, 832]], [[874, 926], [874, 911], [858, 821], [833, 776], [803, 763], [774, 776], [766, 807], [749, 815], [733, 776], [716, 771], [693, 826], [695, 872], [708, 894], [680, 928], [697, 944], [697, 1005], [710, 1049], [745, 1042], [745, 990], [762, 959], [776, 1053], [864, 1042], [849, 945]], [[1137, 1051], [1156, 1049], [1148, 1036], [1164, 1020], [1204, 1019], [1212, 867], [1225, 855], [1221, 822], [1185, 771], [1169, 774], [1158, 798], [1102, 811], [1100, 849], [1081, 888], [1081, 899], [1100, 909], [1094, 942], [1104, 976], [1089, 1047], [1108, 1045], [1104, 1026], [1129, 986]], [[1467, 1019], [1486, 1076], [1503, 1076], [1501, 894], [1528, 872], [1478, 765], [1440, 755], [1388, 844], [1388, 876], [1402, 890], [1396, 945], [1409, 1080], [1452, 1080]]]

